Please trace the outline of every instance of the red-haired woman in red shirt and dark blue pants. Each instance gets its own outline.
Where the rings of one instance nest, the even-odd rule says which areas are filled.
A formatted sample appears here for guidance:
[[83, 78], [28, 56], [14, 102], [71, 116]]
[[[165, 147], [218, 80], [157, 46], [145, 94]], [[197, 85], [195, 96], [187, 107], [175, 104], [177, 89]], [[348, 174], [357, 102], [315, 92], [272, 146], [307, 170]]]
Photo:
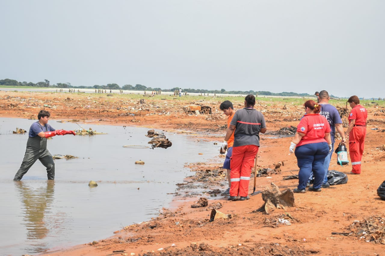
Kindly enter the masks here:
[[306, 115], [297, 126], [297, 132], [290, 144], [289, 151], [297, 157], [298, 187], [295, 193], [306, 192], [306, 182], [313, 171], [314, 183], [310, 191], [321, 191], [323, 175], [323, 162], [331, 151], [330, 125], [324, 116], [320, 115], [321, 106], [313, 100], [304, 104]]

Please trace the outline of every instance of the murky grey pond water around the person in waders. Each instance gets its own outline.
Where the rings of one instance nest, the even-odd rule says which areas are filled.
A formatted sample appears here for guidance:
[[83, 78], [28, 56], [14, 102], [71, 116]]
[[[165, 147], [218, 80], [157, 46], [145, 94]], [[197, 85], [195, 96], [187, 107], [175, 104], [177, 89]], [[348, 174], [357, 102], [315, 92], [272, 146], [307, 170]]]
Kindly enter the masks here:
[[[47, 181], [37, 161], [22, 181], [12, 181], [20, 167], [32, 122], [0, 118], [0, 255], [36, 254], [89, 243], [111, 236], [124, 226], [146, 221], [167, 208], [176, 183], [191, 175], [185, 164], [218, 155], [219, 146], [191, 136], [165, 133], [167, 149], [124, 148], [147, 144], [147, 128], [89, 125], [107, 135], [55, 136], [48, 141], [52, 155], [77, 159], [55, 160], [55, 181]], [[74, 130], [75, 123], [50, 120], [55, 129]], [[161, 130], [156, 130], [161, 131]], [[203, 153], [199, 155], [198, 153]], [[144, 165], [135, 165], [142, 160]], [[90, 188], [90, 180], [99, 186]]]

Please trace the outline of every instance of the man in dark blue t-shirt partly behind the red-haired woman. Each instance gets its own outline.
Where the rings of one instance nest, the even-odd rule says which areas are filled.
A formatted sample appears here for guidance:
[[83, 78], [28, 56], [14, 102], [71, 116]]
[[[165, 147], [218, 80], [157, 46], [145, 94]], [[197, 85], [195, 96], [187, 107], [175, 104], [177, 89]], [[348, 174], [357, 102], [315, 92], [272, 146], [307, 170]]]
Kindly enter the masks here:
[[[329, 171], [329, 165], [331, 161], [331, 156], [333, 155], [333, 150], [334, 150], [334, 143], [335, 143], [335, 133], [336, 130], [338, 133], [341, 135], [341, 143], [342, 145], [346, 145], [346, 138], [345, 138], [345, 133], [343, 131], [343, 126], [342, 126], [342, 120], [340, 117], [340, 113], [338, 113], [338, 110], [329, 104], [329, 93], [325, 90], [320, 91], [319, 95], [319, 105], [321, 105], [321, 111], [320, 115], [325, 116], [326, 120], [328, 121], [330, 125], [330, 140], [331, 140], [331, 151], [325, 158], [325, 162], [323, 163], [323, 170], [325, 171], [325, 174], [323, 176], [323, 181], [321, 188], [328, 188], [330, 187], [330, 184], [328, 183], [328, 178], [327, 174]], [[310, 180], [313, 179], [313, 173], [310, 175]], [[306, 184], [306, 187], [310, 186], [310, 180]]]

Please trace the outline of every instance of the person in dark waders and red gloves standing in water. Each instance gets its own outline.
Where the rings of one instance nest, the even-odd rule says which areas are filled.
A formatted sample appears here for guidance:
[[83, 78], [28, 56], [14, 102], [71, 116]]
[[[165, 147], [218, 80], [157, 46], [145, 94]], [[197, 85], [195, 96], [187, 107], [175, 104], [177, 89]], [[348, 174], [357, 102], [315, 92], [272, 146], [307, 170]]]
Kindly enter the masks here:
[[47, 138], [55, 135], [73, 134], [74, 131], [55, 130], [48, 124], [50, 113], [46, 110], [40, 110], [37, 115], [38, 121], [33, 123], [29, 128], [27, 149], [23, 163], [17, 171], [14, 181], [19, 181], [23, 178], [25, 173], [32, 167], [32, 165], [39, 159], [39, 161], [47, 168], [48, 180], [55, 179], [55, 163], [52, 155], [47, 149]]

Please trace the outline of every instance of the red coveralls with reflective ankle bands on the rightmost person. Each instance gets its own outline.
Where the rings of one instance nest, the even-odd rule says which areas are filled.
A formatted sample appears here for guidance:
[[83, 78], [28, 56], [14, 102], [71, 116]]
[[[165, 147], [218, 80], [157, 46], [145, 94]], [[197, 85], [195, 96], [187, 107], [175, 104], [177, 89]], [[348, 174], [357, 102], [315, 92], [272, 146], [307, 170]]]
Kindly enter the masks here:
[[349, 123], [355, 121], [353, 129], [349, 133], [349, 154], [352, 162], [352, 173], [361, 173], [361, 160], [366, 136], [367, 110], [361, 106], [355, 106], [349, 115]]

